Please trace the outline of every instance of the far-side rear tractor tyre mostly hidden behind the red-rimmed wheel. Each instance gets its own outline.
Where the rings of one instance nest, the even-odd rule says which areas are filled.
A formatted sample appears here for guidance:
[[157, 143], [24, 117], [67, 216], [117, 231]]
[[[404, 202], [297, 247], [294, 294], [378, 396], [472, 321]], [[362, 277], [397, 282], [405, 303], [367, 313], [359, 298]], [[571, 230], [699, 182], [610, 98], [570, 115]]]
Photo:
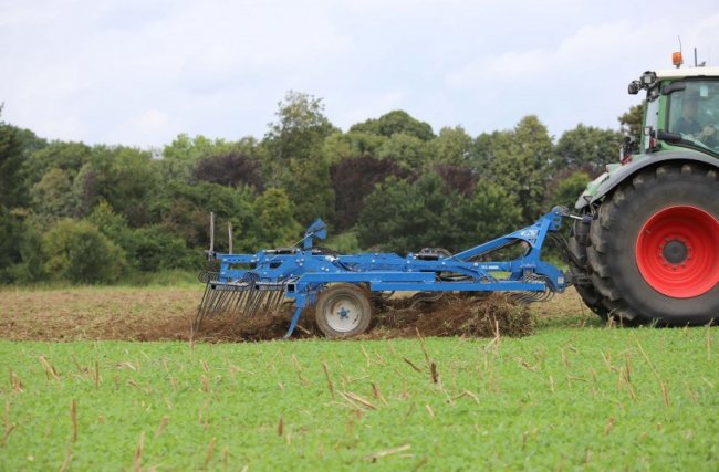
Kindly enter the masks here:
[[590, 225], [591, 220], [574, 221], [569, 240], [569, 249], [572, 253], [569, 261], [570, 271], [575, 280], [574, 289], [584, 304], [602, 319], [607, 319], [608, 311], [602, 304], [602, 295], [594, 289], [590, 276], [592, 270], [586, 256], [586, 248], [590, 245]]

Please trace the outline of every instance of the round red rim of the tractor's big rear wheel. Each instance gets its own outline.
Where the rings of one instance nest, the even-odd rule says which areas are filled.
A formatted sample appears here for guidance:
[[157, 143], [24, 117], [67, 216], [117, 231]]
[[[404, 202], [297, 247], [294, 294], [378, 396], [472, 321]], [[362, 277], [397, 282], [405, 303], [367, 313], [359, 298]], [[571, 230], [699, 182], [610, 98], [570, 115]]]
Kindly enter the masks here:
[[696, 207], [659, 210], [639, 231], [636, 259], [657, 292], [674, 298], [702, 295], [719, 283], [719, 222]]

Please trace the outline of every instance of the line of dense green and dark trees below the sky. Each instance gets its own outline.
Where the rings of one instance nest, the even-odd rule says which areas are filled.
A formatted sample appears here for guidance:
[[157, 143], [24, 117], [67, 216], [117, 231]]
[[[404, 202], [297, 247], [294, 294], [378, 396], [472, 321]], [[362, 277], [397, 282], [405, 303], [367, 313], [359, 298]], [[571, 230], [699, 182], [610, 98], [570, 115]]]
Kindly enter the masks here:
[[289, 92], [261, 139], [181, 134], [160, 153], [0, 122], [0, 283], [200, 269], [210, 211], [235, 228], [236, 252], [292, 244], [317, 217], [343, 252], [459, 250], [572, 206], [636, 133], [639, 107], [619, 122], [554, 141], [533, 115], [472, 137], [394, 111], [343, 132], [322, 99]]

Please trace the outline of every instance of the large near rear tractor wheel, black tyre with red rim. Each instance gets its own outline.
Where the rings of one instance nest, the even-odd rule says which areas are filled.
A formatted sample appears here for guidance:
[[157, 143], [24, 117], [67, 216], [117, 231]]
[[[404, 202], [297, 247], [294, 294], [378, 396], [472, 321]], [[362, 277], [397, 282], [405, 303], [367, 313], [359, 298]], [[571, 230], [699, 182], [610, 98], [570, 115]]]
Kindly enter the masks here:
[[640, 171], [608, 196], [587, 261], [609, 316], [631, 323], [719, 318], [719, 181], [698, 165]]

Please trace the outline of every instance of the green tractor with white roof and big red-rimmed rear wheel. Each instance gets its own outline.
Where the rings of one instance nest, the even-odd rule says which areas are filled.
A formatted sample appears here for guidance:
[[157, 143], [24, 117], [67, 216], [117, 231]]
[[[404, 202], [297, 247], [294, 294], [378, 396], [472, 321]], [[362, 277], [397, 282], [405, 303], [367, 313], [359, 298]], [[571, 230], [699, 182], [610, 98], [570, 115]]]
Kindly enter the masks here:
[[624, 324], [719, 321], [719, 67], [645, 72], [643, 133], [576, 202], [572, 279]]

